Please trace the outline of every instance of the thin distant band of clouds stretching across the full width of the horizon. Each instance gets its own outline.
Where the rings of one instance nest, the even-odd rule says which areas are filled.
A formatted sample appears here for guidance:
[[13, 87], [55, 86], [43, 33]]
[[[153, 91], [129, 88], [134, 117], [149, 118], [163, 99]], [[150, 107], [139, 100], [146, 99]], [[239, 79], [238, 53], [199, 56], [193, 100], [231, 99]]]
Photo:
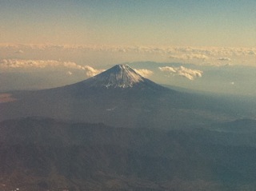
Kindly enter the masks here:
[[110, 51], [110, 52], [138, 52], [138, 53], [154, 53], [169, 54], [169, 56], [187, 55], [187, 58], [209, 58], [216, 55], [256, 55], [256, 48], [247, 47], [193, 47], [193, 46], [104, 46], [104, 45], [10, 45], [0, 44], [0, 48], [24, 50], [94, 50], [94, 51]]

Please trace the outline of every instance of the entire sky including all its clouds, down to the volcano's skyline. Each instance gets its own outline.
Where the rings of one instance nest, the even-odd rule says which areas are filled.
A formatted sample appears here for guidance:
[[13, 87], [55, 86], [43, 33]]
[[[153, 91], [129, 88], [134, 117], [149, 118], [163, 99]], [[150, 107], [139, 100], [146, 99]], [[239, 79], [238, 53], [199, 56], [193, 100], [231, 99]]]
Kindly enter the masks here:
[[256, 95], [255, 18], [255, 0], [0, 0], [0, 92], [130, 62], [154, 82]]

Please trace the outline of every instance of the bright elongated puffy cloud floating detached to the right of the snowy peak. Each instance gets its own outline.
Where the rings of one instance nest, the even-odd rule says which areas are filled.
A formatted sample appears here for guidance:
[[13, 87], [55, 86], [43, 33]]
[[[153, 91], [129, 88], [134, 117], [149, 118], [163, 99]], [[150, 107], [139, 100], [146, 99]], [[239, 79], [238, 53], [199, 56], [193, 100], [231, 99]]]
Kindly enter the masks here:
[[165, 67], [159, 67], [159, 70], [161, 70], [162, 72], [167, 72], [169, 74], [182, 76], [189, 80], [194, 80], [195, 78], [201, 78], [203, 73], [201, 70], [192, 70], [184, 66], [180, 66], [180, 67], [165, 66]]

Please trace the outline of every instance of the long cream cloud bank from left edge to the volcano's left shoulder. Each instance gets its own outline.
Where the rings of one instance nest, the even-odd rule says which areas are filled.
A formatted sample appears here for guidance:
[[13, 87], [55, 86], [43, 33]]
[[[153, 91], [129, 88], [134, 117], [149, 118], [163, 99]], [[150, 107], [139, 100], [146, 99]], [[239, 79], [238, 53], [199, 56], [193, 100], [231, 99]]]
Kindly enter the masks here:
[[[54, 60], [18, 60], [18, 59], [3, 59], [0, 60], [0, 69], [2, 70], [22, 70], [22, 69], [46, 69], [46, 68], [58, 68], [58, 69], [73, 69], [85, 71], [87, 77], [93, 77], [96, 74], [101, 73], [104, 70], [97, 70], [91, 66], [81, 66], [75, 62], [60, 62]], [[68, 71], [67, 74], [73, 74]]]

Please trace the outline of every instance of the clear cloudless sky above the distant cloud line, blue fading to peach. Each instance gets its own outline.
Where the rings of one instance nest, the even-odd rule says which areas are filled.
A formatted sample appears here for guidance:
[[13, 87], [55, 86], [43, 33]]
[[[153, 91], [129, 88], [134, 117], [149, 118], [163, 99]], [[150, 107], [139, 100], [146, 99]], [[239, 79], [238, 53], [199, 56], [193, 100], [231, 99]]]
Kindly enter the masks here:
[[0, 43], [256, 46], [254, 0], [1, 0]]

